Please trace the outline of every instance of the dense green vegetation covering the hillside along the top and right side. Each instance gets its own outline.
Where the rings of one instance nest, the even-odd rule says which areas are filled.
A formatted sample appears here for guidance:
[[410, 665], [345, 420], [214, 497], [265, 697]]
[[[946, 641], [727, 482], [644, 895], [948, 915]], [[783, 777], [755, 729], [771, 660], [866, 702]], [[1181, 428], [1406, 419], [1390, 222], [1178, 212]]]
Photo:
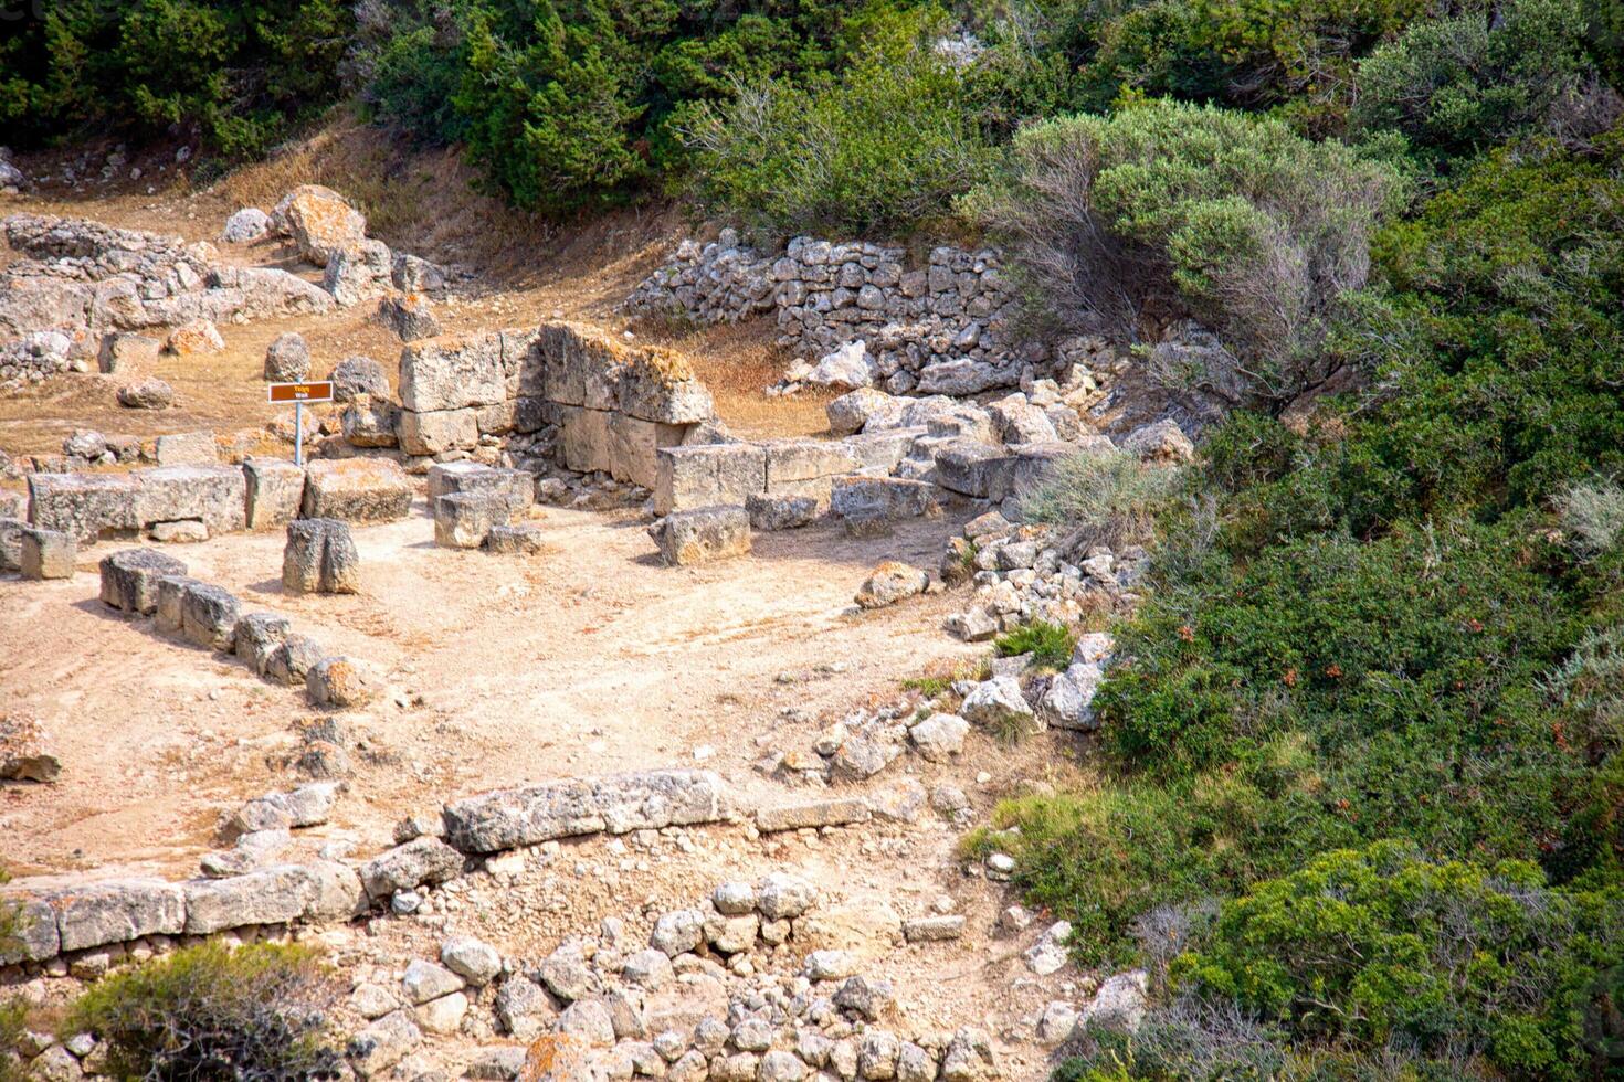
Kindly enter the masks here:
[[1579, 1079], [1624, 1071], [1621, 79], [1611, 0], [68, 0], [0, 118], [240, 156], [349, 89], [520, 206], [984, 232], [1036, 331], [1200, 320], [1200, 464], [1028, 508], [1160, 539], [1098, 784], [974, 842], [1155, 978], [1060, 1076]]

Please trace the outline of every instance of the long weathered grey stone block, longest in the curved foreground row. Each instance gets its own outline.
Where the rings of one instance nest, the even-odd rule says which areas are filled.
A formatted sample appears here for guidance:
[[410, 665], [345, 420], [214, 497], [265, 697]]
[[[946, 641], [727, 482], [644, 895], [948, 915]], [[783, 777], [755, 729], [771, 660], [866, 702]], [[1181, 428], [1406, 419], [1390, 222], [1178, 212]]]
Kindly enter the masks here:
[[645, 771], [593, 780], [564, 779], [499, 790], [445, 806], [447, 839], [469, 853], [539, 845], [609, 831], [658, 831], [715, 822], [726, 814], [721, 779], [710, 771]]

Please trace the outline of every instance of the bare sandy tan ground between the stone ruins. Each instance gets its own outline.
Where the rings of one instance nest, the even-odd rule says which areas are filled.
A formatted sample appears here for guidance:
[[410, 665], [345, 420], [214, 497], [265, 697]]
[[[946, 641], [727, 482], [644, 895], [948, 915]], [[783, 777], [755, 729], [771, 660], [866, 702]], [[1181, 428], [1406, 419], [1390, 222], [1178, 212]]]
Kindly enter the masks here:
[[[438, 308], [448, 331], [559, 316], [617, 334], [632, 329], [689, 352], [736, 433], [825, 428], [822, 401], [762, 393], [789, 360], [771, 346], [770, 321], [695, 329], [627, 324], [615, 315], [615, 302], [687, 230], [674, 214], [627, 213], [557, 230], [469, 196], [451, 161], [403, 159], [369, 130], [333, 140], [206, 191], [172, 182], [153, 193], [141, 185], [94, 193], [47, 187], [0, 196], [0, 214], [86, 216], [213, 240], [237, 206], [268, 208], [304, 180], [331, 183], [362, 200], [374, 232], [391, 247], [474, 264], [479, 277], [468, 295]], [[221, 251], [253, 264], [286, 258], [274, 243]], [[138, 373], [172, 383], [177, 409], [123, 410], [115, 402], [122, 378], [65, 376], [0, 399], [0, 448], [49, 456], [75, 428], [151, 438], [208, 427], [227, 446], [286, 453], [268, 435], [276, 415], [260, 380], [265, 347], [283, 331], [304, 334], [315, 375], [351, 354], [396, 370], [400, 342], [372, 303], [222, 326], [222, 355], [162, 359]], [[625, 769], [705, 766], [744, 808], [814, 798], [818, 788], [789, 785], [754, 764], [775, 749], [807, 751], [823, 725], [853, 709], [896, 701], [908, 676], [968, 670], [986, 657], [984, 646], [942, 631], [942, 620], [965, 605], [963, 589], [853, 612], [875, 563], [934, 568], [945, 537], [978, 511], [948, 508], [887, 539], [853, 540], [830, 524], [762, 534], [749, 558], [671, 569], [659, 565], [637, 511], [547, 508], [539, 524], [551, 550], [503, 558], [435, 547], [419, 500], [401, 522], [354, 529], [364, 587], [349, 597], [283, 594], [281, 532], [167, 548], [193, 576], [232, 590], [245, 612], [286, 615], [326, 652], [377, 668], [388, 686], [383, 699], [346, 714], [315, 711], [302, 688], [271, 685], [235, 659], [161, 638], [151, 620], [107, 610], [97, 600], [96, 561], [120, 545], [84, 548], [68, 581], [0, 579], [0, 704], [34, 712], [63, 761], [55, 785], [0, 785], [0, 865], [45, 879], [195, 874], [198, 857], [216, 847], [221, 813], [300, 782], [294, 759], [302, 736], [322, 730], [341, 736], [352, 772], [333, 821], [299, 832], [300, 852], [348, 844], [367, 855], [388, 844], [401, 816], [434, 813], [447, 800]], [[909, 785], [948, 782], [971, 796], [984, 822], [1000, 796], [1075, 784], [1080, 751], [1059, 733], [1017, 748], [971, 733], [950, 764], [905, 754], [875, 779], [833, 792], [885, 800]], [[741, 826], [713, 826], [690, 831], [689, 847], [663, 837], [651, 850], [630, 852], [622, 839], [585, 839], [482, 905], [374, 921], [364, 936], [344, 928], [323, 934], [333, 936], [346, 970], [377, 970], [380, 978], [401, 957], [434, 957], [448, 931], [536, 959], [604, 917], [620, 917], [633, 938], [643, 936], [646, 917], [689, 905], [716, 882], [789, 868], [857, 908], [885, 904], [918, 917], [947, 905], [965, 913], [961, 941], [877, 951], [866, 972], [893, 980], [909, 1024], [1010, 1032], [1025, 1017], [1030, 1035], [1030, 1019], [1047, 999], [1075, 999], [1067, 981], [1078, 975], [1038, 980], [1025, 970], [1018, 954], [1036, 928], [1018, 941], [994, 934], [997, 912], [1013, 899], [965, 874], [960, 834], [924, 808], [913, 822], [823, 835], [752, 839]], [[1041, 1053], [1020, 1040], [1012, 1048], [1005, 1077], [1046, 1072]]]

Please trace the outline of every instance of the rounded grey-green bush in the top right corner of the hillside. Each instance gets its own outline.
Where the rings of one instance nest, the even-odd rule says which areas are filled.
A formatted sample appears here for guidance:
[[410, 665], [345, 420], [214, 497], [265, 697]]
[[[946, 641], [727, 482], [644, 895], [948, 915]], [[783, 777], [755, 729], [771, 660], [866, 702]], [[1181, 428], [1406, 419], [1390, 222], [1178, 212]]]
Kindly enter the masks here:
[[1359, 65], [1353, 127], [1397, 130], [1436, 157], [1512, 136], [1588, 140], [1619, 115], [1585, 47], [1579, 0], [1470, 3], [1411, 24]]

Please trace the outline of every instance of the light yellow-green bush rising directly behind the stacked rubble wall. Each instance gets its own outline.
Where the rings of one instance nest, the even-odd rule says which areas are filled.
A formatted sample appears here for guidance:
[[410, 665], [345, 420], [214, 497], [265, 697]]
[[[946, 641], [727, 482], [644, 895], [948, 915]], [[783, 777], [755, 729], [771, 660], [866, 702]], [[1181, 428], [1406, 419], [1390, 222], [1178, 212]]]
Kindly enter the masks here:
[[700, 110], [698, 190], [770, 235], [898, 234], [944, 216], [983, 180], [992, 149], [958, 70], [896, 19], [835, 78], [741, 84]]

